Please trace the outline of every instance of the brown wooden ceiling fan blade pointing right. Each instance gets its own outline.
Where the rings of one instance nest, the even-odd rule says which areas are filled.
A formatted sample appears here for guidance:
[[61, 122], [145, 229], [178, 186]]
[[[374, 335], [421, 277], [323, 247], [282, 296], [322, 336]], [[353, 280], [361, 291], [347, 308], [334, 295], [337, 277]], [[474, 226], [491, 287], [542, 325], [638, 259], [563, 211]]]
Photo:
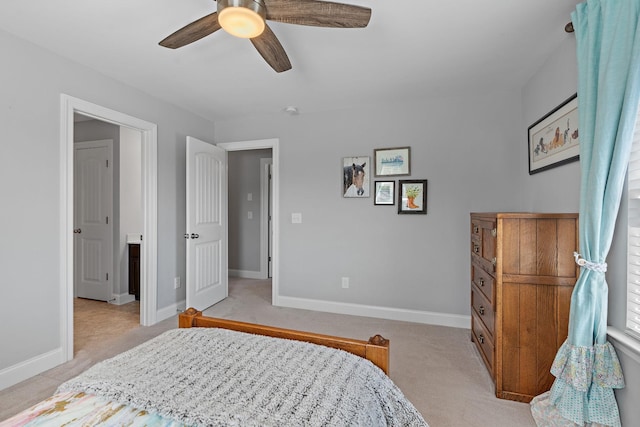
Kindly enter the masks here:
[[313, 27], [363, 28], [371, 9], [319, 0], [265, 0], [267, 19]]

